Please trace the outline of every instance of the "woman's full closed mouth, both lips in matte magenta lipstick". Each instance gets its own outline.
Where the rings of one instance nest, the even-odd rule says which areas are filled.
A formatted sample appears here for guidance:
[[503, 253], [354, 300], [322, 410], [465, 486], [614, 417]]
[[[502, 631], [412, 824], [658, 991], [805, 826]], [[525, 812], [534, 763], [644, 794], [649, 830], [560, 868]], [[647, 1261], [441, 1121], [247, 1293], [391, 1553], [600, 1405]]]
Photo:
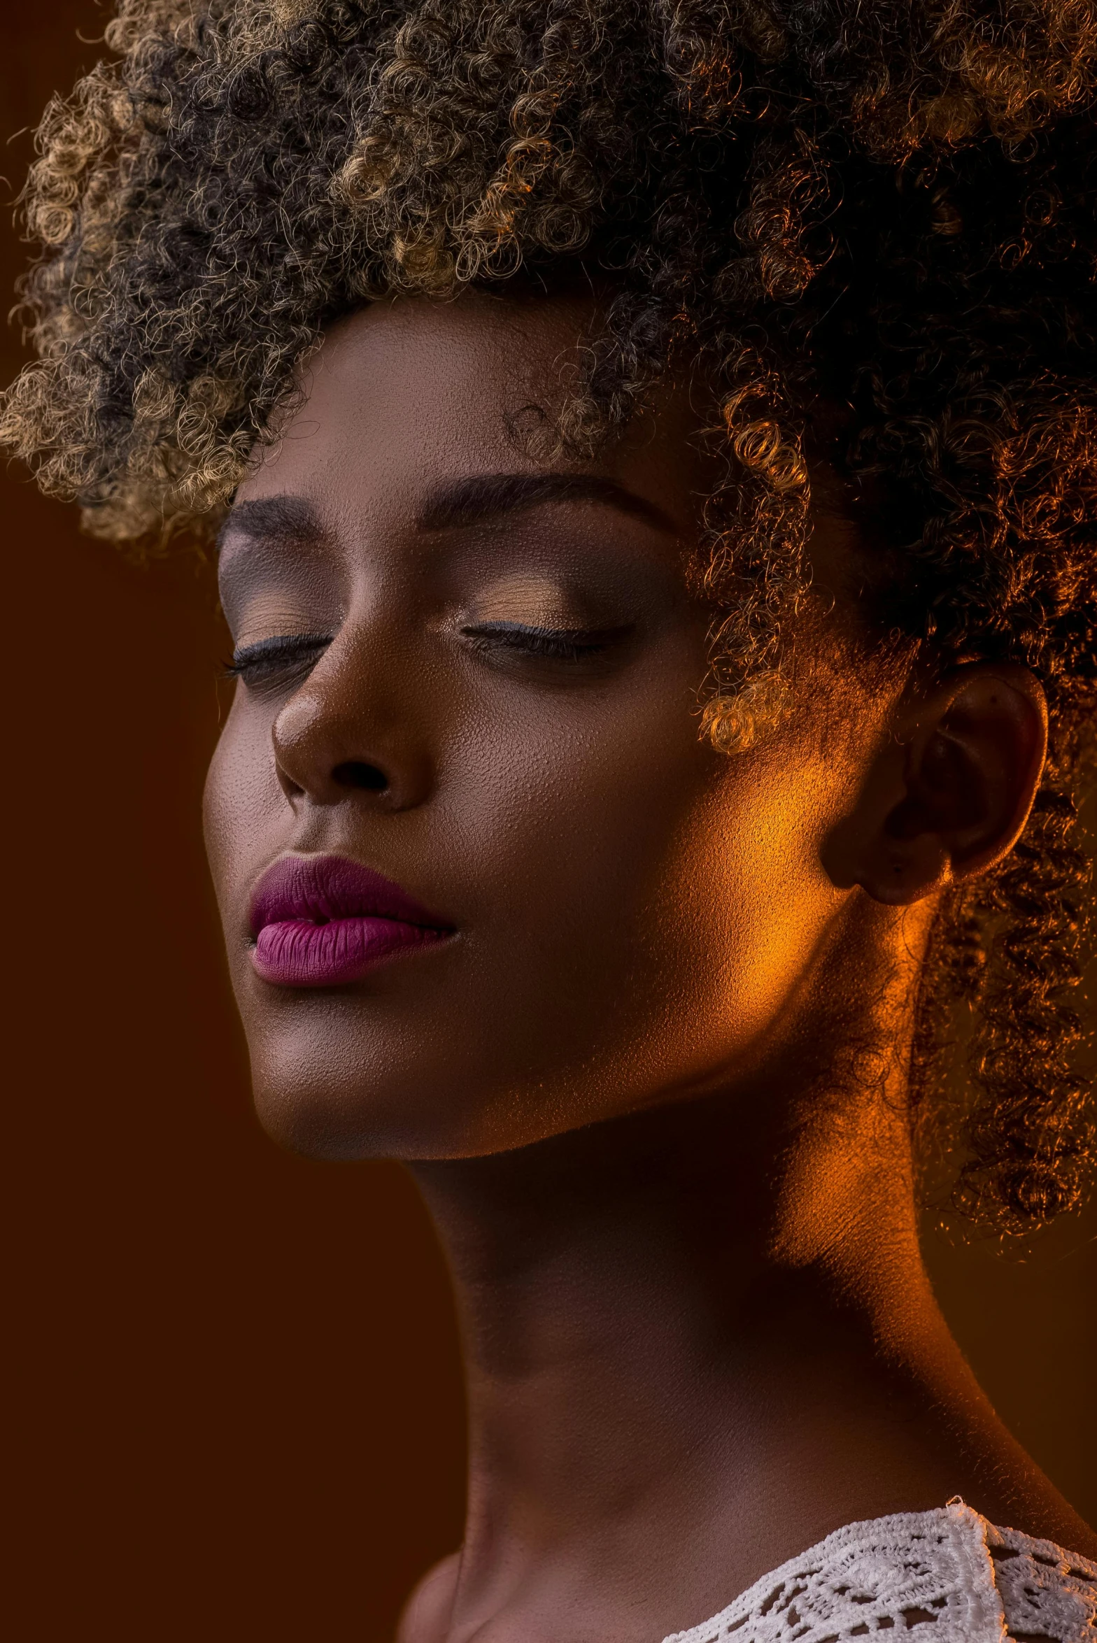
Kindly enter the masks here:
[[251, 895], [251, 963], [279, 987], [338, 987], [452, 933], [399, 884], [343, 856], [282, 856]]

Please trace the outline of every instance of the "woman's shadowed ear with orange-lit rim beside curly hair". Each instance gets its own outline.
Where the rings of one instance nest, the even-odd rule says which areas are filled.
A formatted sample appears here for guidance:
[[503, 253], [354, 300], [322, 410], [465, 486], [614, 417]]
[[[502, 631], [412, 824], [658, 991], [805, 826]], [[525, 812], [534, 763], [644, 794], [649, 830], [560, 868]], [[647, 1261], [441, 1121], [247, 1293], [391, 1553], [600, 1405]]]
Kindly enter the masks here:
[[854, 815], [829, 836], [834, 884], [888, 907], [975, 877], [1017, 843], [1048, 751], [1048, 705], [1026, 667], [957, 669], [908, 706]]

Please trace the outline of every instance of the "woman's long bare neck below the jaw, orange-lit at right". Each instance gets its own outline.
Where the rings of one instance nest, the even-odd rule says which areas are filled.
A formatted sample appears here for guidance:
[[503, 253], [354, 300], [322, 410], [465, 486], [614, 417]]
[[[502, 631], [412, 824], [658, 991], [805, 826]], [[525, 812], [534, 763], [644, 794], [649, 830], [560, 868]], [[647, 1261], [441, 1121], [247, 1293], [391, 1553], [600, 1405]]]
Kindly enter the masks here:
[[780, 1106], [757, 1083], [415, 1168], [468, 1369], [452, 1636], [558, 1635], [567, 1604], [659, 1640], [964, 1487], [948, 1434], [987, 1411], [921, 1267], [903, 1104]]

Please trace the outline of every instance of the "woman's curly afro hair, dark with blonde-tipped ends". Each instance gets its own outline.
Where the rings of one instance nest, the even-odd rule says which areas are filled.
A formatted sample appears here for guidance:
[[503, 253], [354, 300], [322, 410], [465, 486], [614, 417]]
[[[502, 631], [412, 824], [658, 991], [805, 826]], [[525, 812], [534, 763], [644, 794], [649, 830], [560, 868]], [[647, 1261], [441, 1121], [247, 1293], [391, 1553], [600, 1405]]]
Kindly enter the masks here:
[[39, 131], [8, 449], [94, 532], [158, 542], [217, 518], [338, 315], [598, 278], [562, 440], [683, 361], [711, 384], [716, 746], [778, 690], [821, 463], [882, 634], [1041, 679], [1046, 779], [1013, 854], [939, 909], [913, 1101], [977, 1004], [957, 1198], [1007, 1231], [1074, 1208], [1094, 0], [122, 0], [107, 46]]

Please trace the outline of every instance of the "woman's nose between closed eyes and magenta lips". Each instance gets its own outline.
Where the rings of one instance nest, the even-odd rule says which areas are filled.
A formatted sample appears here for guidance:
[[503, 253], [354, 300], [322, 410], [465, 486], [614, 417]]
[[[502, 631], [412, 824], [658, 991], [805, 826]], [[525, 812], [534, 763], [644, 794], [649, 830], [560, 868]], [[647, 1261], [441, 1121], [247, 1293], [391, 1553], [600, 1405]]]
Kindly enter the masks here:
[[294, 808], [369, 794], [386, 810], [411, 810], [430, 794], [432, 759], [415, 715], [399, 703], [383, 657], [363, 649], [337, 639], [274, 720], [274, 767]]

